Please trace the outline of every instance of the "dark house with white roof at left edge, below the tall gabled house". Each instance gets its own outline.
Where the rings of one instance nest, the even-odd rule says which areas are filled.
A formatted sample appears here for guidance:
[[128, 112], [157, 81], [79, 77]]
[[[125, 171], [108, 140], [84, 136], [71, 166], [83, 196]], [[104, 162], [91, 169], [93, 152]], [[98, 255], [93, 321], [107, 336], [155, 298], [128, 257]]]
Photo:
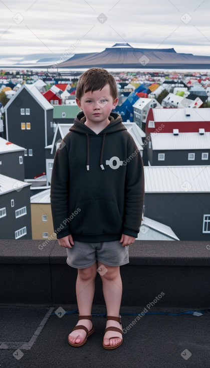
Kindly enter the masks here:
[[25, 179], [25, 148], [0, 137], [0, 174]]

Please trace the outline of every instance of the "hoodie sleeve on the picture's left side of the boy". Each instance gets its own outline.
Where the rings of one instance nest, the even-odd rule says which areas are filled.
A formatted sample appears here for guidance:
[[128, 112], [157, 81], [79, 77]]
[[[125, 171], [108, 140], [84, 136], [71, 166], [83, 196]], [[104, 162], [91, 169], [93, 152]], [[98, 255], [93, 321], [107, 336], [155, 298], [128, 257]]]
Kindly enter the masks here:
[[51, 210], [57, 238], [70, 234], [68, 213], [69, 161], [66, 146], [57, 149], [51, 178]]

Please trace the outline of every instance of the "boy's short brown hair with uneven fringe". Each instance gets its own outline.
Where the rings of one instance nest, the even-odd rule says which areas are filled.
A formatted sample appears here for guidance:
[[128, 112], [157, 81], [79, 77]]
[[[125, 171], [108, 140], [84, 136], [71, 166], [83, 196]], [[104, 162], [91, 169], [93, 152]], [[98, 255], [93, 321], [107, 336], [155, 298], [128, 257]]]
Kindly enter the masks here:
[[113, 75], [103, 68], [90, 68], [79, 78], [76, 97], [80, 100], [84, 93], [102, 90], [106, 84], [110, 86], [113, 99], [117, 98], [117, 84]]

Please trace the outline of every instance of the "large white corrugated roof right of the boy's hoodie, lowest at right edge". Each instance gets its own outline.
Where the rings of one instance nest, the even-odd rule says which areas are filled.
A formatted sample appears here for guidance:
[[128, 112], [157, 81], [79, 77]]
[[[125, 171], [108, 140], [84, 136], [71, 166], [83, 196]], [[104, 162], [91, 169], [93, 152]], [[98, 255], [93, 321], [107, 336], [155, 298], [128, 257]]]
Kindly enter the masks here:
[[210, 192], [210, 166], [144, 166], [145, 193]]

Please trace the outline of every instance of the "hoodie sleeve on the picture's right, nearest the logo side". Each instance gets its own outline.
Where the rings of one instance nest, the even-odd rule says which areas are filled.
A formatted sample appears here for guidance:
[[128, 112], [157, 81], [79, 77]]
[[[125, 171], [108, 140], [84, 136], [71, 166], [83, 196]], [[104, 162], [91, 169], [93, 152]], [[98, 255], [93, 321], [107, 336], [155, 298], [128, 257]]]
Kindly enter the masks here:
[[123, 234], [137, 238], [144, 204], [144, 169], [139, 149], [132, 137], [128, 143], [126, 163]]

